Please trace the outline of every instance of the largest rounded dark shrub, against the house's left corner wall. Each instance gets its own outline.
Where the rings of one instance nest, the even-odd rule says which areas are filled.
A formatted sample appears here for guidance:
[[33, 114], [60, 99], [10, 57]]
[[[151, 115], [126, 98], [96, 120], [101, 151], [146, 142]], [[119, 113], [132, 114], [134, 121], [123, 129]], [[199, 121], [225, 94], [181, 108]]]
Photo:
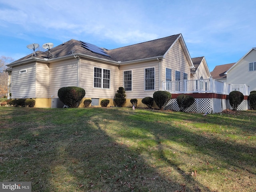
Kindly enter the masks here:
[[80, 87], [62, 87], [58, 90], [58, 97], [69, 108], [77, 108], [85, 96], [85, 90]]

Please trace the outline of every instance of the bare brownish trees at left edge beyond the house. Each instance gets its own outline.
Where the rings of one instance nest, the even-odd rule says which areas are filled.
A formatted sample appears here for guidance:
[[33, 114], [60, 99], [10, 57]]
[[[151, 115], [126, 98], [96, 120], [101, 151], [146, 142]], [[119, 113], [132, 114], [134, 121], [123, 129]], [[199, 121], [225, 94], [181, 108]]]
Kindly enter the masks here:
[[7, 68], [6, 64], [13, 61], [11, 57], [0, 57], [0, 97], [5, 96], [8, 90], [8, 73], [4, 71]]

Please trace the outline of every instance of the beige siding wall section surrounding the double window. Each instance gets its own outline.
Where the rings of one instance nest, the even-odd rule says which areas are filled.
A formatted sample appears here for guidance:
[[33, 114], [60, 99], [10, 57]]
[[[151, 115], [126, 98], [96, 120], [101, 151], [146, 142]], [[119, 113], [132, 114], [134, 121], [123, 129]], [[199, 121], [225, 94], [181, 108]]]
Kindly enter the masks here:
[[[94, 88], [94, 67], [110, 70], [110, 89]], [[92, 60], [80, 60], [80, 87], [85, 90], [86, 98], [110, 98], [117, 93], [119, 84], [118, 66], [94, 62]]]

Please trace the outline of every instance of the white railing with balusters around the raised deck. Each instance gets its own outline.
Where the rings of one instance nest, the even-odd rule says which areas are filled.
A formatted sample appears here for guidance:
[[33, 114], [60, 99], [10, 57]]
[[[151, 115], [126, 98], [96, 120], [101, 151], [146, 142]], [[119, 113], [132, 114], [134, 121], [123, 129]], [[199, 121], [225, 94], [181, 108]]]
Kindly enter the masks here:
[[250, 86], [246, 84], [232, 85], [209, 79], [162, 82], [162, 90], [170, 93], [218, 93], [228, 95], [232, 91], [240, 91], [244, 96], [250, 94]]

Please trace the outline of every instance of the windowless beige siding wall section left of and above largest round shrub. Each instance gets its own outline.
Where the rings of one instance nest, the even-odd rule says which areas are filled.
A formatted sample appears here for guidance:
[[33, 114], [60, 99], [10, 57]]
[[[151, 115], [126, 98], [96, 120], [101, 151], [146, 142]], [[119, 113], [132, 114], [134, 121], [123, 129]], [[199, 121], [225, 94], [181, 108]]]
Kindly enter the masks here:
[[58, 90], [68, 86], [77, 86], [77, 60], [50, 63], [49, 97], [58, 98]]

